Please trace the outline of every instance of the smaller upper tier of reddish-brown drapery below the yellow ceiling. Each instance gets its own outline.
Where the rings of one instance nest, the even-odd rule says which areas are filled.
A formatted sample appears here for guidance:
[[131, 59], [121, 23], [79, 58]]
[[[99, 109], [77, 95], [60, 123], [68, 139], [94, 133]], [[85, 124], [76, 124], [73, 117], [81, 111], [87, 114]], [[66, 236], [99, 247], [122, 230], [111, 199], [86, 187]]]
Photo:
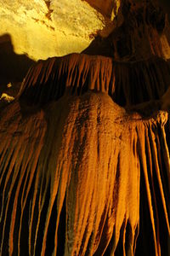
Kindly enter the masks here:
[[157, 100], [170, 82], [169, 61], [116, 62], [99, 55], [71, 54], [39, 61], [27, 73], [20, 97], [33, 103], [58, 100], [65, 90], [80, 95], [88, 90], [105, 92], [121, 106]]

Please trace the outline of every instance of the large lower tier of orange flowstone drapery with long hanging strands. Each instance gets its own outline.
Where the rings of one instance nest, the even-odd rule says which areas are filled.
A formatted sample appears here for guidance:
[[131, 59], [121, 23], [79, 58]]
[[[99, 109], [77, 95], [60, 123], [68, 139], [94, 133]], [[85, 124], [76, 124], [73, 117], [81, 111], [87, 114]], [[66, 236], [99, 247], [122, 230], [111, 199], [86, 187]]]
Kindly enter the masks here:
[[21, 113], [20, 104], [8, 106], [0, 126], [2, 142], [8, 137], [10, 144], [0, 146], [8, 159], [0, 172], [1, 253], [47, 255], [51, 244], [54, 254], [133, 255], [142, 184], [150, 211], [145, 229], [161, 255], [162, 230], [169, 232], [167, 113], [129, 116], [106, 93], [93, 91], [65, 94], [43, 110], [25, 106]]

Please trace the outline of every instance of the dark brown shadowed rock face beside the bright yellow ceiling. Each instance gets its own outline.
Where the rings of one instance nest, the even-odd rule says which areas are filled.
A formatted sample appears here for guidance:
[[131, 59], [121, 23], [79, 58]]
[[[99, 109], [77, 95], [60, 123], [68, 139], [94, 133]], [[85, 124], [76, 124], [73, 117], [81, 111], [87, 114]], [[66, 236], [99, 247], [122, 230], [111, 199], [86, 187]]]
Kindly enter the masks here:
[[151, 1], [122, 1], [112, 26], [99, 32], [83, 52], [112, 56], [117, 61], [139, 61], [156, 55], [170, 58], [167, 15]]

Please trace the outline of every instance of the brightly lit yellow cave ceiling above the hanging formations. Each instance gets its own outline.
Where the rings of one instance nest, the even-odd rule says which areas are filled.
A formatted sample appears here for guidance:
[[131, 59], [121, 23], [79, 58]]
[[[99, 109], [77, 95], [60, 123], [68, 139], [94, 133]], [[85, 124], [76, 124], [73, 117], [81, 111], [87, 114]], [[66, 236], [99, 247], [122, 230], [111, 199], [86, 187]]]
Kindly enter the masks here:
[[0, 35], [8, 33], [15, 53], [34, 60], [81, 52], [105, 26], [110, 2], [102, 12], [95, 1], [96, 9], [81, 0], [0, 0]]

